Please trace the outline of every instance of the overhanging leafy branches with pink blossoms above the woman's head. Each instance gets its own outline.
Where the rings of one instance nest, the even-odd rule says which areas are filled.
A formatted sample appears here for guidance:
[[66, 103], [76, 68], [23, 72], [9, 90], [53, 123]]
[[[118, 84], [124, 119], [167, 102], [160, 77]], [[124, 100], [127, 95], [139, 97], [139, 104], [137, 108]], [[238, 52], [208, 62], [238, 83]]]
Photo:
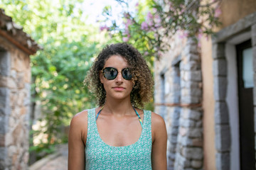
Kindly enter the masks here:
[[127, 1], [117, 1], [124, 8], [123, 22], [114, 20], [112, 8], [106, 6], [102, 30], [131, 42], [148, 57], [158, 57], [168, 50], [168, 40], [176, 33], [198, 40], [203, 34], [212, 35], [213, 28], [220, 25], [221, 0], [146, 0], [139, 1], [135, 10]]

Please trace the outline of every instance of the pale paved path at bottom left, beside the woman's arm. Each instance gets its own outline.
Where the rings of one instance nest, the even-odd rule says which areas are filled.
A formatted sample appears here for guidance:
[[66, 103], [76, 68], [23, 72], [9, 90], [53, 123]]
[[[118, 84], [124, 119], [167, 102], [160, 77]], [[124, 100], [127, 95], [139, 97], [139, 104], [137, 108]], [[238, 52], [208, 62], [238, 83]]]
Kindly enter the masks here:
[[55, 154], [39, 160], [29, 170], [68, 170], [68, 145], [61, 145]]

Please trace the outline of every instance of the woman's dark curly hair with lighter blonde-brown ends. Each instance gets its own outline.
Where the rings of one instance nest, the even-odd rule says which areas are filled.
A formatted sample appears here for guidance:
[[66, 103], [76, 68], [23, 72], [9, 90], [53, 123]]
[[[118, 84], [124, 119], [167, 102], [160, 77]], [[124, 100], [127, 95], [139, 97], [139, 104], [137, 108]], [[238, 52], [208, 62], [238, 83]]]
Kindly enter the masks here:
[[144, 103], [151, 99], [154, 81], [151, 76], [146, 61], [139, 51], [126, 42], [107, 45], [97, 56], [91, 69], [87, 72], [84, 84], [95, 94], [99, 106], [103, 106], [106, 99], [106, 91], [100, 82], [100, 71], [103, 69], [105, 62], [112, 55], [119, 55], [127, 60], [127, 64], [132, 68], [132, 88], [131, 103], [134, 107], [142, 107]]

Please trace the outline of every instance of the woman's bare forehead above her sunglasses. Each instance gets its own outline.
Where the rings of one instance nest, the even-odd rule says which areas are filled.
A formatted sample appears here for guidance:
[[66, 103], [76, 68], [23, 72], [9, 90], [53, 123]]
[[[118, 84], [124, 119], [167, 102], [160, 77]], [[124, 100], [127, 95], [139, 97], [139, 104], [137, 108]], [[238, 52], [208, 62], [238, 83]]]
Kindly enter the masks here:
[[104, 67], [124, 68], [128, 67], [127, 60], [120, 55], [112, 55], [105, 61]]

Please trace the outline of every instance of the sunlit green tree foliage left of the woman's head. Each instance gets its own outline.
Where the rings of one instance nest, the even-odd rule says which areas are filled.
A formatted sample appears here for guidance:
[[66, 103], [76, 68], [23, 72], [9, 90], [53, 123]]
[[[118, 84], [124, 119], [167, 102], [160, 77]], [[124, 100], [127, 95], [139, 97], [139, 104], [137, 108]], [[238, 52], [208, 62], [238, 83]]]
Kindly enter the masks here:
[[[82, 81], [93, 58], [109, 40], [98, 26], [87, 25], [81, 0], [2, 0], [0, 8], [43, 47], [31, 56], [33, 102], [41, 103], [40, 132], [48, 142], [31, 148], [50, 152], [50, 145], [67, 141], [63, 126], [75, 113], [96, 105]], [[34, 134], [35, 135], [35, 134]]]

